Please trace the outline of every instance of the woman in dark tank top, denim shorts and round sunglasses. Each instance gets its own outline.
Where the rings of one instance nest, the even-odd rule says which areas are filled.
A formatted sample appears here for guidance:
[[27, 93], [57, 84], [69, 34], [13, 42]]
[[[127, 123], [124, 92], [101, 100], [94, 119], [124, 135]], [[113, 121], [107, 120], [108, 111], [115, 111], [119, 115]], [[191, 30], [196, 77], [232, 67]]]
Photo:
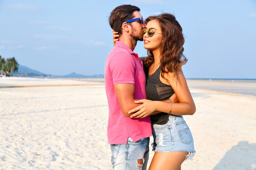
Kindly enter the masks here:
[[[135, 118], [150, 115], [155, 155], [149, 170], [180, 170], [183, 161], [195, 154], [193, 137], [182, 117], [195, 113], [195, 104], [182, 72], [187, 62], [183, 55], [182, 27], [170, 13], [150, 16], [146, 23], [141, 35], [148, 52], [144, 60], [147, 99], [137, 100], [141, 105], [129, 113]], [[162, 102], [174, 93], [178, 103]]]

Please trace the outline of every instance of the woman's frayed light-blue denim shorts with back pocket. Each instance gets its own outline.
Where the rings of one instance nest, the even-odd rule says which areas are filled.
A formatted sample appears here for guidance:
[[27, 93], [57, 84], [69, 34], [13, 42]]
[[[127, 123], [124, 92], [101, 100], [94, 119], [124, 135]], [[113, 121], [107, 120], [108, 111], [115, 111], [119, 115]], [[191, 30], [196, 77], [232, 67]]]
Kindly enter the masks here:
[[152, 124], [155, 152], [189, 152], [186, 159], [195, 155], [194, 141], [185, 120], [180, 115], [169, 115], [164, 125]]

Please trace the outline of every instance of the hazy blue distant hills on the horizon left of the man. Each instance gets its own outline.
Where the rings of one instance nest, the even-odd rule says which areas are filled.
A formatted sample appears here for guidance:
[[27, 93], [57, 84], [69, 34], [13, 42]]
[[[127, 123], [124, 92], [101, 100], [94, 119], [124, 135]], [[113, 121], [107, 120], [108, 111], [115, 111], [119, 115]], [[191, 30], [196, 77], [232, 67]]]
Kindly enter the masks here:
[[47, 75], [39, 71], [28, 68], [27, 66], [18, 66], [18, 72], [14, 72], [16, 77], [48, 77], [48, 78], [104, 78], [104, 75], [82, 75], [77, 73], [70, 73], [69, 75]]

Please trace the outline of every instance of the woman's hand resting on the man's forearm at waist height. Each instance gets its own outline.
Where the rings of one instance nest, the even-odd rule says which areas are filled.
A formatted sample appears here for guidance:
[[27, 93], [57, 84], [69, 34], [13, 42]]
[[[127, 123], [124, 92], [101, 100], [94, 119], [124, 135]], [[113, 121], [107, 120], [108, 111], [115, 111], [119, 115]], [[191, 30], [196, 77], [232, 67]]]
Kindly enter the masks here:
[[128, 113], [132, 114], [130, 118], [144, 118], [149, 116], [151, 113], [155, 111], [155, 106], [154, 102], [152, 100], [147, 100], [147, 99], [141, 99], [134, 101], [135, 103], [142, 103], [140, 106], [137, 106], [136, 108], [133, 108], [130, 110]]

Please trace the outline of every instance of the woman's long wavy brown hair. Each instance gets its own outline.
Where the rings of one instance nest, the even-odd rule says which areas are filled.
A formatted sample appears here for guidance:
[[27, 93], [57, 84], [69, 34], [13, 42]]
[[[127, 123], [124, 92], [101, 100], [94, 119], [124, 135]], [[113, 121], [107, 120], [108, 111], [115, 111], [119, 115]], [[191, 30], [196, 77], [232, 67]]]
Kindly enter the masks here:
[[[160, 68], [162, 77], [164, 77], [164, 73], [168, 72], [174, 73], [175, 76], [176, 72], [187, 62], [187, 58], [183, 55], [183, 44], [185, 40], [182, 27], [171, 13], [150, 16], [146, 19], [146, 23], [150, 20], [157, 20], [162, 30], [163, 42], [160, 47]], [[150, 50], [148, 50], [147, 53], [148, 57], [144, 61], [144, 65], [149, 68], [154, 62], [154, 56]]]

